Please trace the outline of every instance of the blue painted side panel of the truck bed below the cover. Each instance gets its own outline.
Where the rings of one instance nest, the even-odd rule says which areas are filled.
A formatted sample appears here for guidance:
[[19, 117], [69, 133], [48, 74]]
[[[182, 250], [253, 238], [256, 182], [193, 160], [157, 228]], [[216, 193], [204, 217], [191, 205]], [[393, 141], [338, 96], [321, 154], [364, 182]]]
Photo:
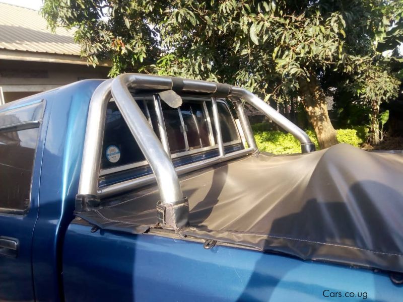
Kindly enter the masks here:
[[[403, 287], [366, 269], [72, 223], [66, 301], [401, 301]], [[327, 290], [327, 291], [326, 291]], [[325, 297], [330, 292], [363, 297]]]

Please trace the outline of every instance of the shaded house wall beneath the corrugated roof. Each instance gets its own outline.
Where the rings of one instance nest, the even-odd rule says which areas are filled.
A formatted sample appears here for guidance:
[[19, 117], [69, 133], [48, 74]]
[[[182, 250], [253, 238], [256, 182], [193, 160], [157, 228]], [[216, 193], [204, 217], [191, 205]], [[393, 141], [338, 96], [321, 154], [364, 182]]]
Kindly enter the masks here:
[[66, 63], [0, 61], [0, 104], [84, 79], [106, 79], [109, 67]]

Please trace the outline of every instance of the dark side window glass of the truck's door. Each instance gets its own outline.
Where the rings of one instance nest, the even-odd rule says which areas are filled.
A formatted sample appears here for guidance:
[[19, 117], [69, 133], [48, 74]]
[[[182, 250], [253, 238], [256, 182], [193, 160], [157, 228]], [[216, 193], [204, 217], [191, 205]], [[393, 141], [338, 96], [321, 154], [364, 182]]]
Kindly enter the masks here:
[[28, 209], [42, 104], [0, 114], [0, 211]]

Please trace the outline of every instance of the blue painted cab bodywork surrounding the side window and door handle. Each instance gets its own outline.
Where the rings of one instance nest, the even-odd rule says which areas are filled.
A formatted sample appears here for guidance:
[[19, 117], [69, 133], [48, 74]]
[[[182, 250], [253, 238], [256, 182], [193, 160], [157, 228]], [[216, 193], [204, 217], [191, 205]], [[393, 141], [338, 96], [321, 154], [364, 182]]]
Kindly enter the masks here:
[[2, 106], [45, 103], [26, 215], [0, 213], [0, 236], [19, 240], [16, 259], [0, 257], [0, 300], [63, 299], [61, 248], [73, 219], [87, 112], [102, 80], [85, 80]]

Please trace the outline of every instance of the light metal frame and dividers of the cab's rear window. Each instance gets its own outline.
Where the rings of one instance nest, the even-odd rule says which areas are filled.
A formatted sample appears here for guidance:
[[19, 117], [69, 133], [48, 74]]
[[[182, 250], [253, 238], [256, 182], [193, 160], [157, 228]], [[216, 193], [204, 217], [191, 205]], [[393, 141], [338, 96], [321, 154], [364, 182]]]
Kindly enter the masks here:
[[[214, 149], [219, 148], [218, 142], [216, 141], [216, 139], [214, 137], [214, 132], [213, 132], [213, 120], [214, 120], [214, 118], [210, 116], [209, 110], [207, 108], [207, 102], [212, 102], [213, 98], [212, 97], [204, 97], [204, 96], [191, 96], [191, 95], [189, 95], [189, 96], [183, 95], [182, 97], [185, 98], [185, 101], [203, 102], [203, 111], [204, 111], [204, 113], [206, 115], [207, 124], [208, 124], [209, 140], [210, 140], [210, 143], [212, 145], [202, 147], [202, 148], [189, 149], [186, 132], [183, 131], [184, 140], [185, 140], [185, 146], [186, 146], [187, 150], [182, 151], [182, 152], [178, 152], [178, 153], [174, 153], [174, 154], [171, 154], [171, 152], [169, 152], [171, 160], [178, 159], [178, 158], [185, 157], [185, 156], [189, 156], [189, 155], [204, 153], [204, 152], [208, 152], [210, 150], [214, 150]], [[165, 120], [164, 120], [162, 107], [161, 107], [161, 98], [158, 95], [158, 93], [153, 93], [151, 95], [135, 95], [135, 96], [133, 96], [133, 98], [134, 99], [143, 98], [143, 102], [145, 103], [144, 105], [146, 107], [146, 112], [147, 112], [146, 119], [149, 121], [152, 129], [154, 131], [156, 131], [156, 129], [154, 129], [152, 121], [151, 121], [151, 115], [150, 115], [150, 112], [149, 112], [149, 108], [148, 108], [148, 106], [146, 106], [147, 105], [146, 100], [150, 99], [151, 102], [149, 103], [149, 105], [152, 104], [152, 106], [154, 106], [154, 109], [156, 111], [156, 115], [157, 115], [157, 119], [158, 119], [157, 122], [158, 122], [158, 125], [159, 125], [158, 130], [159, 130], [159, 133], [160, 133], [160, 136], [161, 136], [161, 142], [162, 142], [162, 144], [164, 146], [163, 137], [165, 136], [165, 138], [167, 140], [167, 143], [168, 143], [168, 146], [164, 146], [164, 148], [168, 148], [168, 150], [169, 150], [169, 141], [168, 141], [167, 132], [166, 132], [166, 129], [165, 129]], [[154, 102], [152, 102], [152, 100], [154, 100]], [[111, 101], [114, 102], [115, 100], [112, 98], [109, 102], [111, 102]], [[238, 126], [235, 123], [234, 116], [233, 116], [233, 114], [232, 114], [227, 102], [225, 100], [223, 100], [223, 99], [216, 99], [216, 102], [224, 104], [224, 106], [227, 108], [228, 112], [230, 113], [230, 115], [232, 117], [232, 123], [234, 125], [234, 128], [235, 128], [236, 133], [237, 133], [237, 137], [238, 137], [236, 140], [232, 140], [232, 141], [223, 143], [223, 146], [226, 147], [226, 146], [232, 146], [232, 145], [236, 145], [236, 144], [242, 144], [242, 140], [241, 140], [241, 136], [240, 136], [240, 133], [239, 133]], [[178, 114], [179, 114], [181, 126], [184, 127], [184, 121], [183, 121], [182, 113], [180, 111], [180, 107], [178, 107]], [[162, 125], [160, 125], [160, 122], [162, 123]], [[141, 161], [141, 162], [126, 164], [126, 165], [117, 166], [117, 167], [113, 167], [113, 168], [100, 169], [99, 176], [100, 177], [107, 176], [107, 175], [110, 175], [110, 174], [113, 174], [113, 173], [122, 172], [122, 171], [135, 169], [135, 168], [139, 168], [139, 167], [144, 167], [144, 166], [148, 166], [148, 165], [149, 165], [149, 163], [147, 162], [147, 160], [144, 160], [144, 161]]]

